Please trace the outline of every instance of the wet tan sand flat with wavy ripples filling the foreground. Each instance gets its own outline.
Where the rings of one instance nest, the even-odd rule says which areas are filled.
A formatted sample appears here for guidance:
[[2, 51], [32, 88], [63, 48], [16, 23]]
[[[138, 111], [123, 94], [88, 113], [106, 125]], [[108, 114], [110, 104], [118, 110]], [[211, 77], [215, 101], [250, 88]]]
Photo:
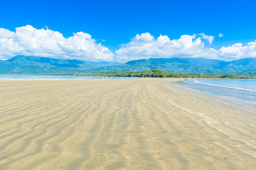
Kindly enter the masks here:
[[255, 108], [175, 80], [1, 79], [0, 169], [256, 169]]

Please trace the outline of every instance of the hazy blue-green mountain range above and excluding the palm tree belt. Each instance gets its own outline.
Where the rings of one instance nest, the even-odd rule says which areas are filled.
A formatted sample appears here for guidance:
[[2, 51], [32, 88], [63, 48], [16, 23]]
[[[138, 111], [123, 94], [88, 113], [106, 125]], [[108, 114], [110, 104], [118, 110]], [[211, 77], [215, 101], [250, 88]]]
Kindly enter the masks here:
[[150, 58], [148, 60], [132, 60], [124, 64], [24, 55], [17, 55], [8, 60], [0, 60], [0, 74], [65, 74], [100, 71], [146, 71], [153, 69], [176, 73], [233, 73], [255, 76], [256, 58], [244, 58], [233, 61], [204, 58]]

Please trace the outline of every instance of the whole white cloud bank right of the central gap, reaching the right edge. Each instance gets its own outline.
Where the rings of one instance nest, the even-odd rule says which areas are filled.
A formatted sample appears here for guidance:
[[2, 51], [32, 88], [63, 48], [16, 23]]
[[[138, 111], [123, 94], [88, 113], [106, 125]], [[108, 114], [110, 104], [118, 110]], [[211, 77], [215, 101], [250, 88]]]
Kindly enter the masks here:
[[137, 34], [130, 42], [120, 45], [120, 49], [116, 50], [115, 59], [124, 62], [161, 57], [203, 57], [229, 61], [256, 57], [256, 42], [250, 42], [246, 46], [237, 43], [216, 50], [205, 47], [203, 39], [211, 44], [214, 36], [201, 33], [181, 35], [179, 39], [171, 40], [167, 35], [154, 38], [148, 32]]

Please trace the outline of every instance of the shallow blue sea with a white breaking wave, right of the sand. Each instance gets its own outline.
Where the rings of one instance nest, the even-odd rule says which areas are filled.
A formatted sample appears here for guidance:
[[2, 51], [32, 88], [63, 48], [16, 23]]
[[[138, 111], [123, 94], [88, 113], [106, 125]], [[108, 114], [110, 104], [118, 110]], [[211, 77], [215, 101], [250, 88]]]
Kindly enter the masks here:
[[172, 82], [198, 93], [221, 96], [241, 105], [256, 107], [256, 80], [252, 79], [187, 79]]

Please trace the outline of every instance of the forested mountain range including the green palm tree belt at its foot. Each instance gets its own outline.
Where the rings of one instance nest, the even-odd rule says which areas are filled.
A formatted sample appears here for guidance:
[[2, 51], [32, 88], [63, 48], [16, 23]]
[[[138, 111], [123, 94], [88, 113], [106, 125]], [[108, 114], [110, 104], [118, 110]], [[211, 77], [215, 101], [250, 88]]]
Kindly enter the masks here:
[[204, 58], [151, 58], [122, 64], [18, 55], [0, 60], [0, 74], [253, 78], [256, 58], [228, 62]]

